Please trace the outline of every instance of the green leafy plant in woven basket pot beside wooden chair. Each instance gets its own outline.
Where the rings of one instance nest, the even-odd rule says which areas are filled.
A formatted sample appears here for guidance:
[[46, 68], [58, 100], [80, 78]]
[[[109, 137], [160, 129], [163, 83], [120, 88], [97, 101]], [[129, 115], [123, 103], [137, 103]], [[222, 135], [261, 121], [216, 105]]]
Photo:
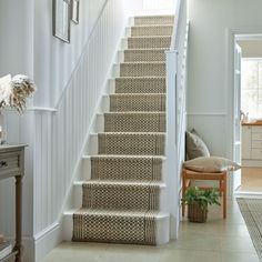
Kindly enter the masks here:
[[202, 190], [198, 187], [192, 187], [187, 190], [182, 201], [188, 204], [188, 218], [190, 222], [203, 223], [208, 218], [209, 204], [218, 204], [220, 192], [216, 188], [212, 190]]

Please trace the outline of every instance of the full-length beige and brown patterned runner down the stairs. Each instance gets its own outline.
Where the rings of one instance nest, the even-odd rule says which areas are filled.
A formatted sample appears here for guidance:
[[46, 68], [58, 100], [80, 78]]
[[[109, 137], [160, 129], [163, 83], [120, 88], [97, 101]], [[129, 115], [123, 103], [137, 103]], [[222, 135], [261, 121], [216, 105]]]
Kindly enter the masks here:
[[157, 244], [172, 16], [137, 17], [73, 214], [73, 241]]

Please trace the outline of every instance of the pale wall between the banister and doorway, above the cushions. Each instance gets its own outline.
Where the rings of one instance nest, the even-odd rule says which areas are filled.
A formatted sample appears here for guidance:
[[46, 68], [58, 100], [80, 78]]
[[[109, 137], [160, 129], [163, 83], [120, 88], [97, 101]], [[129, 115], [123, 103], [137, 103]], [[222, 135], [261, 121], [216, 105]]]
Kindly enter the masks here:
[[231, 157], [226, 30], [262, 31], [261, 10], [261, 0], [190, 0], [188, 125], [213, 155]]

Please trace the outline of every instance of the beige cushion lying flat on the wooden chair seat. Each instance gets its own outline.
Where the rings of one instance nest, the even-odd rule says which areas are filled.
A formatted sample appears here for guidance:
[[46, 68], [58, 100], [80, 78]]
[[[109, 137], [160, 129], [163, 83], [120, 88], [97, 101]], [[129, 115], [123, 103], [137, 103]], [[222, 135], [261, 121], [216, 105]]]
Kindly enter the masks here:
[[210, 157], [210, 158], [202, 157], [185, 161], [183, 163], [183, 168], [198, 172], [215, 173], [223, 171], [235, 171], [241, 167], [229, 159], [219, 157]]

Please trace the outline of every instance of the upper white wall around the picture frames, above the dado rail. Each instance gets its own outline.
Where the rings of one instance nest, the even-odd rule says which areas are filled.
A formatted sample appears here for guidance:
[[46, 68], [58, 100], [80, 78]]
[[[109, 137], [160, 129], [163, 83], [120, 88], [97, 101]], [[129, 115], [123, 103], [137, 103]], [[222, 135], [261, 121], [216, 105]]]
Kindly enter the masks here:
[[56, 107], [104, 3], [81, 1], [68, 44], [52, 36], [52, 0], [1, 0], [0, 77], [29, 74], [38, 85], [34, 105]]

